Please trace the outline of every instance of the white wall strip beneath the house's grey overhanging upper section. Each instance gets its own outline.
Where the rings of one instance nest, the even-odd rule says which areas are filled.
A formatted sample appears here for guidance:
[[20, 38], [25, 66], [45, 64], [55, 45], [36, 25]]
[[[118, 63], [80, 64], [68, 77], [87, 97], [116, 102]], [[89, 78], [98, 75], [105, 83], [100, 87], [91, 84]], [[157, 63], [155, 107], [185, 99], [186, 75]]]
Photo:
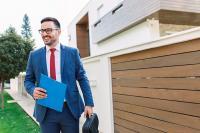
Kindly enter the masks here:
[[90, 45], [91, 55], [104, 54], [158, 39], [159, 22], [148, 20], [98, 44]]

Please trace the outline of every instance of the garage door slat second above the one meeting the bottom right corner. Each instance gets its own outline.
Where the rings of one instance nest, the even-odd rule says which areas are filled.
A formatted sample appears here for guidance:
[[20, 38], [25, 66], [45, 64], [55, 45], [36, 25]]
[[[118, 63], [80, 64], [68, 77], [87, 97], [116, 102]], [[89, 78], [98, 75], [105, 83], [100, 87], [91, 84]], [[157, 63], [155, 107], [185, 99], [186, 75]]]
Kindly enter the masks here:
[[200, 117], [200, 104], [113, 94], [114, 102]]

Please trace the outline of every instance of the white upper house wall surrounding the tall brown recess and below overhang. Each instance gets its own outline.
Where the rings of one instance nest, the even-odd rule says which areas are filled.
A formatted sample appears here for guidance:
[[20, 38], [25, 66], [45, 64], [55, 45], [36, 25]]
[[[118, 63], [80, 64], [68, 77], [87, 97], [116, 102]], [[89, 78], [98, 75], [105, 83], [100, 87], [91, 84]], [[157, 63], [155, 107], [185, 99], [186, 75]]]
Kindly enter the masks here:
[[76, 43], [76, 23], [87, 13], [89, 16], [90, 28], [90, 53], [91, 56], [107, 53], [110, 51], [119, 50], [130, 47], [139, 43], [144, 43], [153, 39], [159, 38], [159, 22], [158, 20], [147, 20], [140, 23], [120, 34], [111, 37], [103, 42], [94, 44], [92, 41], [91, 27], [99, 20], [97, 16], [97, 8], [103, 4], [101, 15], [105, 15], [123, 0], [91, 0], [87, 6], [77, 15], [73, 22], [68, 27], [68, 33], [71, 36], [69, 46], [77, 47]]

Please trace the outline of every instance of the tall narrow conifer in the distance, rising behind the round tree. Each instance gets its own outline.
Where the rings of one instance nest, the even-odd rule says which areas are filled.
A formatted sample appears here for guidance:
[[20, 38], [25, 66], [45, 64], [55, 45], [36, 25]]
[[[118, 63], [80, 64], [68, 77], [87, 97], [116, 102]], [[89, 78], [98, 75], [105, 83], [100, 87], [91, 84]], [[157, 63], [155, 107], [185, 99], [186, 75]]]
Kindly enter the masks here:
[[29, 21], [29, 17], [27, 14], [25, 14], [23, 17], [21, 34], [25, 39], [28, 39], [28, 40], [31, 39], [31, 37], [32, 37], [30, 21]]

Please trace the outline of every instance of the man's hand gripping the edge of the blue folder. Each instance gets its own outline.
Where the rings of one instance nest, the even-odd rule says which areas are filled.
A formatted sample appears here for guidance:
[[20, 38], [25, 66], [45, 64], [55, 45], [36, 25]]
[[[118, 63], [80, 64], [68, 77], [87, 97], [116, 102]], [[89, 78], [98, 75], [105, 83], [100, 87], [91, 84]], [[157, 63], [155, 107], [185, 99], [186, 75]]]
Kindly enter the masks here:
[[39, 88], [39, 87], [36, 87], [34, 89], [34, 92], [33, 92], [33, 98], [34, 99], [43, 99], [43, 98], [46, 98], [46, 97], [47, 97], [47, 94], [46, 94], [45, 89], [42, 89], [42, 88]]

